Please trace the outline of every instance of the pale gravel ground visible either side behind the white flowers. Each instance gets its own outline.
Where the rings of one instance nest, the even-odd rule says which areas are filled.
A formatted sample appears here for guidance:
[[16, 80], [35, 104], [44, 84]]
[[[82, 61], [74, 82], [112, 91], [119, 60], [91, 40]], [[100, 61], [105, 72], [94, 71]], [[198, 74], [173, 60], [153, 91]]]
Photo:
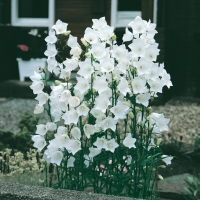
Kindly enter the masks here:
[[[33, 114], [36, 103], [34, 99], [0, 99], [0, 130], [18, 132], [17, 125], [21, 116], [26, 112]], [[164, 106], [153, 106], [154, 112], [164, 113], [165, 117], [171, 119], [170, 131], [163, 133], [164, 138], [169, 139], [170, 135], [178, 141], [182, 139], [185, 143], [192, 143], [200, 132], [199, 105], [199, 99], [175, 98]], [[38, 116], [39, 123], [48, 121], [46, 114]]]

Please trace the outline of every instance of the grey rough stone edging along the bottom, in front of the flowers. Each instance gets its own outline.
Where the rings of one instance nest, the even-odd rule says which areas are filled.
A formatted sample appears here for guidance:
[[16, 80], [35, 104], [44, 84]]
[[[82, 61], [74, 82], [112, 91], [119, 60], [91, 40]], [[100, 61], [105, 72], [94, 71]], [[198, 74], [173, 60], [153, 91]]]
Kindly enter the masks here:
[[[129, 197], [93, 194], [75, 190], [61, 190], [0, 182], [1, 200], [134, 200]], [[136, 199], [135, 199], [136, 200]], [[139, 199], [138, 199], [139, 200]]]

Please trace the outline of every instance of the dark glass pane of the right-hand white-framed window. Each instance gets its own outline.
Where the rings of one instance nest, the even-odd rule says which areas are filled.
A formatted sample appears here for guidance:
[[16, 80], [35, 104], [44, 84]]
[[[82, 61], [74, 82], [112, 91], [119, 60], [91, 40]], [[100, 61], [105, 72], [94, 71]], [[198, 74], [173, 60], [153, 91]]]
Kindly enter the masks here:
[[141, 11], [141, 0], [118, 0], [118, 11]]

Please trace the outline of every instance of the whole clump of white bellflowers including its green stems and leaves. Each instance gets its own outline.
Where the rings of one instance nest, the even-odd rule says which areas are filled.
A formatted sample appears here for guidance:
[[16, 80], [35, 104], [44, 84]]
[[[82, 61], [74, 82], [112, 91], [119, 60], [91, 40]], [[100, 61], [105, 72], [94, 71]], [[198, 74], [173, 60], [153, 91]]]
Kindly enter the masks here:
[[136, 17], [117, 45], [104, 17], [92, 21], [82, 45], [60, 20], [45, 39], [48, 71], [57, 80], [48, 93], [44, 69], [30, 77], [34, 113], [49, 115], [37, 125], [34, 147], [57, 165], [55, 187], [154, 199], [159, 162], [172, 160], [159, 148], [169, 119], [151, 108], [162, 88], [172, 86], [164, 64], [156, 63], [156, 24]]

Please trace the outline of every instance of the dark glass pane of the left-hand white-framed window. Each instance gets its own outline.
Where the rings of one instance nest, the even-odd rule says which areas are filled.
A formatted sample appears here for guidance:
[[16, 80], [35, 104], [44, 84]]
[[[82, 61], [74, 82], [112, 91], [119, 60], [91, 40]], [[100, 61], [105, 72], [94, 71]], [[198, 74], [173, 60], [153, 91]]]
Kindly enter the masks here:
[[49, 0], [19, 0], [19, 18], [48, 18]]

